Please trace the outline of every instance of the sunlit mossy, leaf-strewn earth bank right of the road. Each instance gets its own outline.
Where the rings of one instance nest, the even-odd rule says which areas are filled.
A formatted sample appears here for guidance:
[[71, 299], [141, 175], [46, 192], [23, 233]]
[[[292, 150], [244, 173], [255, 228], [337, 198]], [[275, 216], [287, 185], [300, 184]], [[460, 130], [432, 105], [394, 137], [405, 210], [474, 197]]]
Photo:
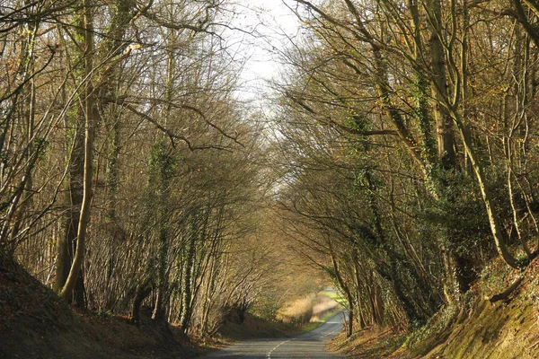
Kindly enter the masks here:
[[[517, 276], [524, 280], [507, 301], [491, 303]], [[539, 258], [524, 272], [494, 259], [455, 307], [444, 307], [412, 333], [371, 328], [338, 337], [332, 346], [354, 358], [538, 358]]]

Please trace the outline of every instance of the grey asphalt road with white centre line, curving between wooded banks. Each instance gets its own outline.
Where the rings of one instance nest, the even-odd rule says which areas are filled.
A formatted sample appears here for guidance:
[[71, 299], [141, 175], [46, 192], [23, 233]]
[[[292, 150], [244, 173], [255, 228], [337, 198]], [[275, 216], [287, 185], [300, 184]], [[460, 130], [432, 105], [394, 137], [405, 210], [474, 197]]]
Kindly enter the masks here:
[[342, 313], [339, 313], [320, 327], [300, 336], [249, 340], [218, 350], [204, 358], [339, 358], [340, 356], [326, 349], [326, 344], [339, 334], [341, 328]]

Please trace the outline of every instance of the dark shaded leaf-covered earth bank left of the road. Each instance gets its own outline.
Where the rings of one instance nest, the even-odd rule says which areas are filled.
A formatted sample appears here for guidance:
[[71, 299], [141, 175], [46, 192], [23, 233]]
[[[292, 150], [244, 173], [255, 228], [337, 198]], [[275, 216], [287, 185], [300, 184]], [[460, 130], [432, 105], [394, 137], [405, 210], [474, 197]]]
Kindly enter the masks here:
[[290, 334], [249, 314], [241, 324], [230, 315], [223, 328], [216, 339], [202, 341], [175, 326], [156, 324], [147, 311], [135, 325], [127, 318], [76, 310], [22, 267], [7, 266], [0, 258], [2, 359], [193, 358], [235, 340]]

